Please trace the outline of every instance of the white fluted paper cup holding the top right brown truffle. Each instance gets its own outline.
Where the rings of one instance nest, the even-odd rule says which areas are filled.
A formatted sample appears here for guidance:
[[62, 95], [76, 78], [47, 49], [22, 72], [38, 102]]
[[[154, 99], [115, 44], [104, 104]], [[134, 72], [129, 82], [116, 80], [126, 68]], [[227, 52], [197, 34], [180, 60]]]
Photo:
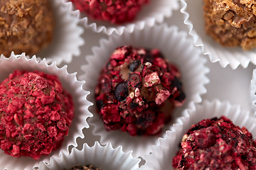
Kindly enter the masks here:
[[241, 47], [223, 47], [206, 34], [203, 0], [181, 0], [181, 13], [185, 13], [184, 23], [189, 28], [189, 34], [192, 35], [194, 44], [196, 47], [201, 47], [203, 54], [208, 55], [211, 62], [220, 62], [221, 67], [230, 64], [232, 69], [236, 69], [240, 64], [244, 68], [247, 68], [250, 62], [256, 64], [256, 48], [244, 51]]

